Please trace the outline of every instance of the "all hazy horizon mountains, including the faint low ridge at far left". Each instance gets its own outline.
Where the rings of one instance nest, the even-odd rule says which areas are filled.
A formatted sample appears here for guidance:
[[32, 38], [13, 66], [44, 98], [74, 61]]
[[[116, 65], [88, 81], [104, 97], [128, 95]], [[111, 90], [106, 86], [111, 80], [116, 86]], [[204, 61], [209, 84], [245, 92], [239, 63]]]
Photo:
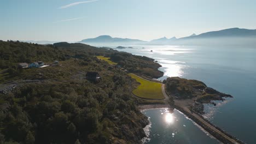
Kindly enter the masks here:
[[[53, 44], [59, 41], [26, 41], [28, 43]], [[110, 45], [202, 45], [202, 44], [242, 44], [249, 43], [256, 45], [256, 29], [229, 28], [220, 31], [191, 34], [184, 38], [159, 38], [150, 41], [128, 38], [113, 38], [109, 35], [101, 35], [96, 38], [83, 39], [78, 43], [85, 43], [95, 46]]]

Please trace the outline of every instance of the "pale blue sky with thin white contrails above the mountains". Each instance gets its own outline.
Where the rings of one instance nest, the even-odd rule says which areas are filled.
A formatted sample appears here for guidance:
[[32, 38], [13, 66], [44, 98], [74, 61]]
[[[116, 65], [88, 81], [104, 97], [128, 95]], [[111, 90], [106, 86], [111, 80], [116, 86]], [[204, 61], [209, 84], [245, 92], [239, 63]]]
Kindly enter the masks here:
[[2, 0], [1, 40], [152, 40], [225, 28], [256, 29], [252, 0]]

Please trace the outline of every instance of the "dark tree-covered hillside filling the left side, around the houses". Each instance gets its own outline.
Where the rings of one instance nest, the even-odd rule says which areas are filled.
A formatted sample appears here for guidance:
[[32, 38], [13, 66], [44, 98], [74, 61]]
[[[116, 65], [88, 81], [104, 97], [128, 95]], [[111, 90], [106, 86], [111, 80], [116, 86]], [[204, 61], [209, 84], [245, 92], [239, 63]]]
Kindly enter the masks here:
[[[147, 117], [131, 97], [134, 80], [95, 56], [108, 56], [145, 77], [154, 59], [84, 44], [0, 41], [0, 143], [139, 143]], [[58, 65], [19, 69], [20, 62]], [[86, 80], [88, 71], [102, 78]], [[7, 89], [7, 90], [6, 90]]]

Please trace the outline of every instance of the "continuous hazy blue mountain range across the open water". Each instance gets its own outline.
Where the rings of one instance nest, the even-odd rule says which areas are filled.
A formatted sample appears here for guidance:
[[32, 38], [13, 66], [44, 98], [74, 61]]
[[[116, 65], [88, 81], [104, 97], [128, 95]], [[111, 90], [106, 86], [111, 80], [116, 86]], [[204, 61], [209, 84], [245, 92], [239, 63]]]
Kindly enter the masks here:
[[[212, 32], [206, 32], [199, 35], [191, 34], [189, 37], [179, 38], [172, 37], [170, 39], [163, 37], [159, 39], [154, 39], [151, 41], [143, 41], [138, 39], [127, 39], [127, 38], [112, 38], [109, 35], [101, 35], [97, 38], [90, 38], [90, 39], [84, 39], [79, 41], [79, 43], [86, 43], [86, 44], [119, 44], [119, 45], [147, 45], [147, 44], [200, 44], [203, 40], [203, 43], [209, 43], [213, 42], [214, 40], [222, 39], [223, 42], [227, 42], [224, 39], [228, 38], [234, 39], [234, 38], [256, 38], [256, 29], [243, 29], [243, 28], [229, 28], [229, 29], [223, 29], [220, 31], [212, 31]], [[256, 39], [255, 39], [256, 41]], [[231, 41], [232, 43], [234, 41]]]

